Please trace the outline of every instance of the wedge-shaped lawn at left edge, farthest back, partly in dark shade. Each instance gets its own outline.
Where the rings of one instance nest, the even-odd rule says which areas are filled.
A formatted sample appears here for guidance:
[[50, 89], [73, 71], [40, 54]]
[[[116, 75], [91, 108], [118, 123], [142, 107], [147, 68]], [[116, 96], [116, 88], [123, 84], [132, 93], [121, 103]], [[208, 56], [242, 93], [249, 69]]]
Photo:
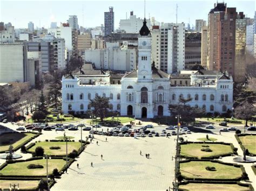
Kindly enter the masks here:
[[33, 133], [6, 133], [0, 135], [0, 152], [8, 151], [10, 145], [14, 146], [15, 148], [18, 145], [26, 142], [26, 140], [32, 138], [33, 136], [35, 136], [35, 134]]

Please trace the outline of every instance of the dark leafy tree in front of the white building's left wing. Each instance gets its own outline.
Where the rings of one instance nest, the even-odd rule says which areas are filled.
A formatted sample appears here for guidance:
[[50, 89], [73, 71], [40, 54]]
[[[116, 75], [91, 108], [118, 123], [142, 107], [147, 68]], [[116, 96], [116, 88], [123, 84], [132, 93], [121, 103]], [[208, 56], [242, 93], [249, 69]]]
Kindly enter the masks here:
[[110, 108], [109, 97], [96, 96], [91, 100], [91, 106], [94, 108], [93, 114], [96, 117], [100, 117], [100, 121], [107, 115], [108, 109]]

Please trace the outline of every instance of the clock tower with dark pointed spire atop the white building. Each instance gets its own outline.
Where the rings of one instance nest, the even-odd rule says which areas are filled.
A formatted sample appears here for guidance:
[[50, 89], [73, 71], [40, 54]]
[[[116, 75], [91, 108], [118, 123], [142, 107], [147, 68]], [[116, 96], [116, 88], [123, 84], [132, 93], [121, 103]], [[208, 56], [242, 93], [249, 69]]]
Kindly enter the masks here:
[[152, 82], [151, 34], [144, 19], [138, 37], [138, 82]]

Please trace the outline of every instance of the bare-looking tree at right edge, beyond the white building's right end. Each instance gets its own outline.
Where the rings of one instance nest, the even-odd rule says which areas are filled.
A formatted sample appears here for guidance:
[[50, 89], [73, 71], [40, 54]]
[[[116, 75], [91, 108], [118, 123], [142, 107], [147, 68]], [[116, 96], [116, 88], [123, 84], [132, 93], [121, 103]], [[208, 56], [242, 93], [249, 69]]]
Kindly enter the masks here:
[[235, 117], [238, 119], [245, 120], [245, 126], [247, 125], [248, 120], [255, 115], [256, 109], [253, 104], [249, 103], [248, 101], [242, 102], [238, 107], [235, 108]]

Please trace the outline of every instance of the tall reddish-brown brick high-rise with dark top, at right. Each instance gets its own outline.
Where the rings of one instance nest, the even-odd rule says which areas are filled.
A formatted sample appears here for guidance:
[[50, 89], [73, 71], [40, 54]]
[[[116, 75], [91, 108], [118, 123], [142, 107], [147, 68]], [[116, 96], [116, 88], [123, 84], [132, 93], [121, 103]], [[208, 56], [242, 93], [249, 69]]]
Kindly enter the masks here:
[[[208, 13], [207, 36], [207, 68], [227, 71], [235, 82], [244, 81], [245, 70], [242, 68], [245, 68], [245, 61], [240, 60], [244, 56], [242, 53], [245, 54], [242, 49], [246, 46], [243, 40], [246, 38], [243, 13], [237, 13], [236, 8], [227, 8], [225, 3], [214, 4], [214, 9]], [[238, 49], [241, 51], [239, 54]], [[241, 68], [239, 72], [236, 69], [238, 66]]]

